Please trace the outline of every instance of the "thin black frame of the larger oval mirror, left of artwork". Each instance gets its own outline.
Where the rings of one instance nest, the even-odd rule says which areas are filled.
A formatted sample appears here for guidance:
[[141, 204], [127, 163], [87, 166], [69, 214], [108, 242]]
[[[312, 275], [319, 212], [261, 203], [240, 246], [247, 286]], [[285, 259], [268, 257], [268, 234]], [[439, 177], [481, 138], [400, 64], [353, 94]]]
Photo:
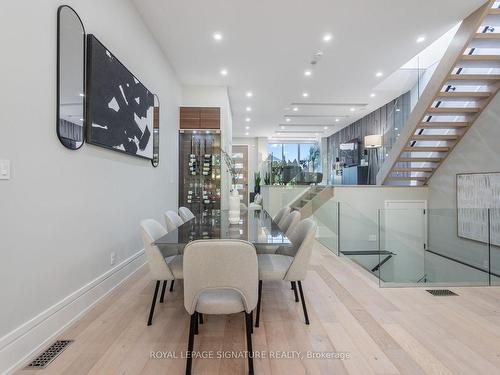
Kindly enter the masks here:
[[[73, 13], [76, 14], [76, 17], [78, 18], [78, 20], [80, 21], [80, 24], [82, 25], [82, 29], [83, 29], [83, 111], [82, 111], [82, 116], [83, 116], [83, 137], [82, 137], [82, 144], [77, 147], [77, 148], [70, 148], [68, 146], [66, 146], [64, 144], [64, 142], [61, 140], [61, 134], [59, 133], [59, 120], [60, 120], [60, 116], [61, 116], [61, 113], [60, 113], [60, 100], [59, 100], [59, 96], [60, 96], [60, 89], [59, 89], [59, 86], [60, 86], [60, 83], [61, 83], [61, 74], [60, 74], [60, 57], [61, 57], [61, 10], [64, 9], [64, 8], [68, 8], [68, 9], [71, 9], [71, 11], [73, 11]], [[85, 31], [85, 26], [83, 25], [83, 22], [82, 22], [82, 19], [80, 18], [80, 15], [76, 12], [76, 10], [74, 10], [72, 7], [70, 7], [69, 5], [60, 5], [58, 8], [57, 8], [57, 55], [56, 55], [56, 132], [57, 132], [57, 138], [59, 139], [59, 141], [62, 143], [62, 145], [64, 147], [66, 147], [68, 150], [73, 150], [73, 151], [76, 151], [76, 150], [79, 150], [80, 148], [82, 148], [83, 144], [85, 143], [85, 128], [86, 128], [86, 114], [85, 114], [85, 109], [86, 109], [86, 106], [87, 106], [87, 88], [86, 88], [86, 49], [87, 49], [87, 45], [86, 45], [86, 41], [87, 41], [87, 32]]]

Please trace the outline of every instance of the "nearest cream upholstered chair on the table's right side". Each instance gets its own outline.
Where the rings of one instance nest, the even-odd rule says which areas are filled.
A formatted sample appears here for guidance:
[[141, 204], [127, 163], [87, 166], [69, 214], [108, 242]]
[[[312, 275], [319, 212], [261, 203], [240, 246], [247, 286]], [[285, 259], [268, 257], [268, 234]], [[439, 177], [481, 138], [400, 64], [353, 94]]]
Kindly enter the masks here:
[[257, 316], [255, 326], [259, 326], [260, 305], [262, 300], [263, 281], [290, 281], [295, 294], [295, 302], [299, 302], [297, 295], [297, 284], [302, 300], [305, 323], [309, 324], [306, 301], [302, 290], [302, 281], [306, 278], [307, 267], [311, 259], [311, 252], [316, 237], [316, 224], [312, 219], [304, 219], [297, 224], [290, 233], [296, 246], [295, 256], [281, 254], [257, 254], [259, 261], [259, 301], [257, 303]]

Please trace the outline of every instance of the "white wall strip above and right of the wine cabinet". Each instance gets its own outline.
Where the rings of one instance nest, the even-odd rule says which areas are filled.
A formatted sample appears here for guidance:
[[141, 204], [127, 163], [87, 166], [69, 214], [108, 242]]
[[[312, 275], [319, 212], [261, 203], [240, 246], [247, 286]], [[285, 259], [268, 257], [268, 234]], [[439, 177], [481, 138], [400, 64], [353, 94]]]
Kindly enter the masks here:
[[[227, 87], [225, 86], [183, 86], [182, 106], [220, 107], [221, 109], [221, 147], [230, 153], [233, 138], [233, 115]], [[221, 168], [221, 208], [229, 208], [229, 189], [231, 177], [224, 160]]]

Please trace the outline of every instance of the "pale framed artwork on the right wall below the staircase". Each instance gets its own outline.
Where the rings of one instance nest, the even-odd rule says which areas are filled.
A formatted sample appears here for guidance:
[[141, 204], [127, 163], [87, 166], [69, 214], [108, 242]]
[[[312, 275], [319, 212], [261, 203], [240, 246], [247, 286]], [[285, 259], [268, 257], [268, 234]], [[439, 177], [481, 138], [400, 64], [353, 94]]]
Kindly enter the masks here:
[[459, 237], [500, 246], [500, 172], [457, 174], [457, 223]]

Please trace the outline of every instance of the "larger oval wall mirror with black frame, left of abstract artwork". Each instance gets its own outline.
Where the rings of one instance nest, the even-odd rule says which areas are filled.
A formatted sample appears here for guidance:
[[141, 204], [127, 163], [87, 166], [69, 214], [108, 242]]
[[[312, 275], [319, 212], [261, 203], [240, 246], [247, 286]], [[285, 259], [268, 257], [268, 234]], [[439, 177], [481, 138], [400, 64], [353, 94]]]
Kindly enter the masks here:
[[85, 127], [85, 28], [73, 8], [57, 10], [57, 136], [71, 150], [82, 147]]

